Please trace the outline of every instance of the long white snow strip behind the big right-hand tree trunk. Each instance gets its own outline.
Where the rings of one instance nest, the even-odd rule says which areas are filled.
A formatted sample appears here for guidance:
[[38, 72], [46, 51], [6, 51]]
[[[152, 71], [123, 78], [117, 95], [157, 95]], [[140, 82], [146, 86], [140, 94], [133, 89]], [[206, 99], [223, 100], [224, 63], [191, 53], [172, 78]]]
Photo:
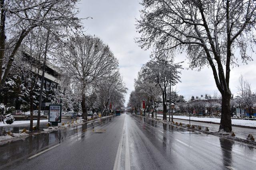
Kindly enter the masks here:
[[[158, 116], [162, 117], [163, 115], [158, 115]], [[169, 115], [167, 115], [167, 117], [169, 117]], [[175, 116], [174, 115], [173, 118], [189, 120], [189, 116]], [[190, 120], [220, 123], [220, 118], [212, 118], [212, 117], [190, 117]], [[232, 120], [232, 125], [256, 127], [255, 120], [244, 120], [244, 119], [231, 119], [231, 120]]]

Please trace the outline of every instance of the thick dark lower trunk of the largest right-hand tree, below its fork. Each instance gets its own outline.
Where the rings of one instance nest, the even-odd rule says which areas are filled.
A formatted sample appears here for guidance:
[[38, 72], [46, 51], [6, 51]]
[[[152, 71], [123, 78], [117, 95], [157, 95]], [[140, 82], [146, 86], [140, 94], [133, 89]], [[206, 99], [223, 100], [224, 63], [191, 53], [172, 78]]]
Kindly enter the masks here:
[[226, 132], [232, 131], [231, 126], [231, 109], [230, 109], [230, 98], [231, 93], [225, 92], [222, 94], [222, 102], [221, 102], [221, 119], [220, 119], [220, 129], [224, 129]]

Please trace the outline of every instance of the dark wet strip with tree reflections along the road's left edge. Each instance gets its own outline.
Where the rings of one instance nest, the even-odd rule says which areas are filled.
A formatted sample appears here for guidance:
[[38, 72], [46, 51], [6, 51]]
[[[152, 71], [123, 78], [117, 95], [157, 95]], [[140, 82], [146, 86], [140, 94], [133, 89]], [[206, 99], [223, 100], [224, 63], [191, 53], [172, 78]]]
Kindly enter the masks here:
[[[0, 165], [11, 164], [13, 160], [19, 160], [24, 156], [36, 154], [40, 150], [44, 150], [57, 143], [62, 143], [66, 139], [72, 139], [72, 136], [76, 137], [80, 135], [80, 139], [83, 139], [88, 128], [109, 122], [111, 119], [112, 117], [108, 117], [107, 119], [100, 119], [97, 123], [85, 123], [77, 127], [53, 131], [51, 133], [30, 135], [25, 139], [0, 145]], [[104, 130], [101, 129], [99, 132], [103, 133]]]

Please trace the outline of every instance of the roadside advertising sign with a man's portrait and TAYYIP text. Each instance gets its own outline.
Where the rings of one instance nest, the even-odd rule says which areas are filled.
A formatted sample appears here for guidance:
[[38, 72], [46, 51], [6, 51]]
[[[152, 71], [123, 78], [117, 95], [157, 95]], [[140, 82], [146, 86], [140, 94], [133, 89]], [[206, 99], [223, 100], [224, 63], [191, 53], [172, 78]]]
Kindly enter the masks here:
[[49, 122], [52, 126], [58, 126], [61, 123], [61, 105], [50, 105], [49, 106]]

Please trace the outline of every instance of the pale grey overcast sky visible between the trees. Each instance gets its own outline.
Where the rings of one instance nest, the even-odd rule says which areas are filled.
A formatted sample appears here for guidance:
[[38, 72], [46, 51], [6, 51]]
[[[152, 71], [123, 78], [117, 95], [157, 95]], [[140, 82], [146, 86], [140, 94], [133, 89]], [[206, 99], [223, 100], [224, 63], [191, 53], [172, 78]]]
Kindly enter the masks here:
[[[119, 60], [120, 72], [128, 88], [126, 104], [130, 92], [134, 90], [134, 78], [141, 66], [150, 60], [150, 51], [144, 51], [134, 42], [134, 37], [139, 36], [136, 33], [135, 18], [139, 18], [141, 8], [139, 0], [82, 0], [79, 5], [80, 18], [93, 18], [83, 21], [86, 33], [100, 37]], [[214, 94], [218, 91], [210, 68], [206, 67], [200, 72], [186, 69], [188, 64], [185, 55], [176, 56], [175, 62], [180, 61], [185, 61], [185, 69], [182, 71], [181, 83], [176, 87], [179, 94], [188, 99], [191, 96]], [[230, 88], [234, 94], [237, 92], [240, 74], [243, 74], [251, 83], [253, 91], [256, 91], [256, 61], [232, 68]]]

